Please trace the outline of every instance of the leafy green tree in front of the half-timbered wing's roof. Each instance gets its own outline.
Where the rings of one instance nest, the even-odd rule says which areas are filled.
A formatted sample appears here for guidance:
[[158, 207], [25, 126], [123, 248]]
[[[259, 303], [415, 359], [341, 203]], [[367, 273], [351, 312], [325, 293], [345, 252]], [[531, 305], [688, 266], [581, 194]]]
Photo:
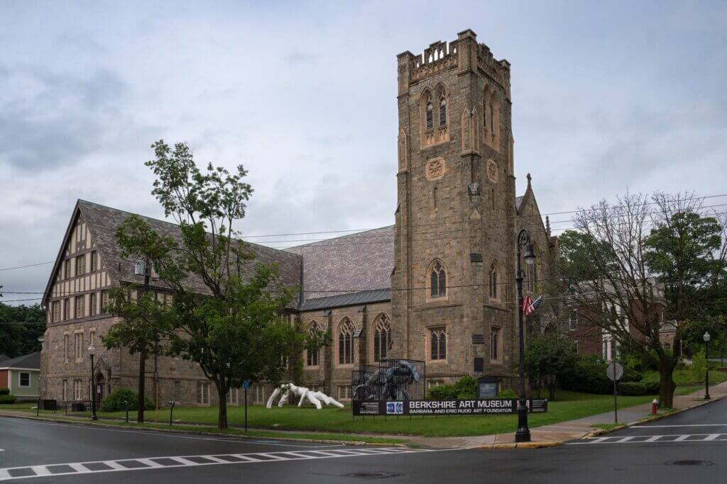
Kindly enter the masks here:
[[[126, 218], [116, 239], [127, 255], [146, 258], [172, 303], [164, 332], [166, 351], [196, 361], [217, 387], [218, 427], [228, 427], [226, 395], [242, 380], [277, 383], [285, 361], [322, 341], [281, 318], [293, 290], [275, 265], [254, 261], [233, 223], [245, 216], [252, 187], [238, 165], [234, 173], [210, 163], [201, 171], [185, 144], [153, 144], [146, 163], [156, 175], [153, 194], [180, 225], [180, 239], [158, 234], [137, 216]], [[190, 280], [203, 289], [190, 289]], [[119, 308], [120, 310], [123, 308]], [[158, 321], [157, 321], [158, 322]]]

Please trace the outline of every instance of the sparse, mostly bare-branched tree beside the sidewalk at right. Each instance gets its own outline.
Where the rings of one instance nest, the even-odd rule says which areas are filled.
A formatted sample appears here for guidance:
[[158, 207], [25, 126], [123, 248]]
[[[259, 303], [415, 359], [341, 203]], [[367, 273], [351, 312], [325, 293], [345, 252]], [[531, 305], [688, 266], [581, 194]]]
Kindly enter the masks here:
[[[723, 219], [704, 215], [694, 194], [627, 192], [574, 216], [577, 230], [559, 238], [561, 287], [569, 305], [604, 340], [643, 353], [659, 369], [659, 406], [670, 408], [678, 345], [662, 344], [664, 324], [676, 337], [704, 311], [705, 287], [724, 268]], [[668, 321], [668, 322], [667, 322]]]

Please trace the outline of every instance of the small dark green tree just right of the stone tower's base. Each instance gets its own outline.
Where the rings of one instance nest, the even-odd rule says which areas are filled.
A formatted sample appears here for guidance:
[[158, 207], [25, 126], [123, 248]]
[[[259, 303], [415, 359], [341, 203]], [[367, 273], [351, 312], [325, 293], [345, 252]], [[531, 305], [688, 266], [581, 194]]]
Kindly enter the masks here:
[[525, 348], [525, 369], [534, 388], [546, 387], [555, 400], [558, 378], [572, 372], [578, 360], [573, 342], [557, 332], [530, 337]]

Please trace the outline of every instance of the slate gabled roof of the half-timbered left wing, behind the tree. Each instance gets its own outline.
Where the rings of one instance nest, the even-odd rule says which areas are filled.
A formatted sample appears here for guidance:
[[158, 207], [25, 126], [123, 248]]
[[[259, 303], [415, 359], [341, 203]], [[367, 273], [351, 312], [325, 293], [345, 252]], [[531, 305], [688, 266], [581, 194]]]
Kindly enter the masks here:
[[[49, 297], [49, 290], [52, 287], [53, 281], [55, 281], [55, 274], [57, 272], [57, 268], [60, 267], [60, 259], [63, 256], [63, 249], [68, 243], [68, 233], [73, 227], [77, 213], [80, 213], [84, 218], [84, 221], [86, 221], [89, 230], [91, 231], [91, 237], [101, 255], [103, 268], [108, 272], [111, 280], [114, 283], [132, 282], [136, 284], [143, 284], [144, 276], [137, 276], [134, 274], [134, 263], [136, 260], [134, 258], [124, 258], [121, 255], [121, 248], [116, 245], [116, 229], [118, 229], [124, 219], [132, 215], [132, 213], [99, 205], [94, 202], [87, 202], [86, 200], [79, 200], [76, 203], [76, 210], [73, 211], [71, 224], [69, 225], [66, 237], [63, 240], [63, 245], [56, 261], [56, 265], [51, 273], [50, 282], [46, 289], [44, 300]], [[148, 218], [144, 216], [141, 216], [141, 218], [148, 223], [153, 230], [157, 231], [158, 234], [173, 237], [174, 239], [177, 239], [177, 242], [181, 245], [182, 238], [180, 227], [176, 223], [161, 221], [156, 218]], [[254, 263], [256, 262], [262, 262], [265, 264], [277, 263], [280, 281], [282, 284], [289, 287], [300, 284], [300, 264], [302, 259], [299, 255], [257, 244], [248, 243], [247, 247], [255, 255], [255, 258], [252, 261], [249, 261], [249, 268], [251, 271]], [[204, 282], [202, 282], [201, 277], [196, 274], [190, 274], [185, 283], [190, 290], [201, 294], [209, 292]], [[153, 287], [164, 287], [163, 283], [154, 280], [150, 281], [150, 285]]]

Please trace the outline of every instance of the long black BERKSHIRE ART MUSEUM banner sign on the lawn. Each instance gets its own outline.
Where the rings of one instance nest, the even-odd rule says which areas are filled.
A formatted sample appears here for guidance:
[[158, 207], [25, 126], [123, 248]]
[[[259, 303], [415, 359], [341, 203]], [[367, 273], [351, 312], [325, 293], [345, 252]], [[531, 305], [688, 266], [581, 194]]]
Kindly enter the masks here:
[[[547, 411], [547, 398], [529, 398], [531, 413]], [[476, 400], [362, 400], [353, 401], [353, 414], [363, 415], [496, 415], [516, 414], [515, 398], [480, 398]]]

